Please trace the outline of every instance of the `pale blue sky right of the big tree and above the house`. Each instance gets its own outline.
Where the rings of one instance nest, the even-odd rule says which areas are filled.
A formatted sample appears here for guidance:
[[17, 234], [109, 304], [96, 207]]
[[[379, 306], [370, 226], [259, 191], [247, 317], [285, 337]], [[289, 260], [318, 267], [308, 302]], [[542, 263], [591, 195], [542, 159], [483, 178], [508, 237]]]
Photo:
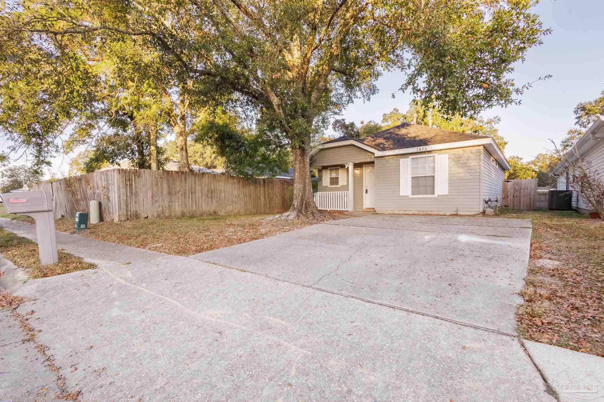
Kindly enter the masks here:
[[[548, 139], [559, 142], [574, 125], [576, 104], [595, 99], [604, 90], [604, 0], [542, 0], [535, 12], [553, 33], [528, 52], [524, 63], [516, 64], [512, 77], [518, 86], [546, 74], [553, 77], [533, 84], [520, 105], [482, 114], [501, 116], [498, 128], [509, 142], [506, 156], [518, 155], [525, 161], [551, 149]], [[342, 117], [356, 124], [379, 123], [394, 107], [406, 111], [411, 96], [399, 92], [396, 99], [391, 97], [402, 81], [401, 73], [385, 74], [377, 83], [380, 92], [369, 102], [350, 105]]]

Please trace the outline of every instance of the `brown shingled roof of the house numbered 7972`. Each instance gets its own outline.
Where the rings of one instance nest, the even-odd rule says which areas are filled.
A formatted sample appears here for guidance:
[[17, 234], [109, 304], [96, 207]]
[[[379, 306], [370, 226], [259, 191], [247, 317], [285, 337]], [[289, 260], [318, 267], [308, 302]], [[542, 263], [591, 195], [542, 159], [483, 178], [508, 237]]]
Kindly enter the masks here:
[[442, 128], [426, 127], [425, 125], [419, 124], [403, 123], [387, 128], [386, 130], [378, 131], [367, 137], [353, 139], [351, 137], [341, 136], [324, 142], [324, 144], [354, 140], [367, 146], [371, 146], [371, 148], [377, 149], [378, 151], [391, 151], [393, 149], [414, 148], [416, 146], [436, 145], [481, 138], [490, 137], [443, 130]]

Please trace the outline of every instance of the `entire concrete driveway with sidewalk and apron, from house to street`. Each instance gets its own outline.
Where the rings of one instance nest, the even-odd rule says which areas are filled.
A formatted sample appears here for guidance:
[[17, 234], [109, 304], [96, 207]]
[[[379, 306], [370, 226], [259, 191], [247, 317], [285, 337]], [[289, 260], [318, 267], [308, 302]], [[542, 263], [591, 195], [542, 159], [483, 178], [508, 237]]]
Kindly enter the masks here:
[[[83, 401], [554, 401], [505, 334], [529, 226], [374, 215], [194, 257], [59, 234], [100, 268], [15, 292]], [[13, 332], [4, 361], [44, 369]], [[2, 371], [0, 400], [54, 391]]]

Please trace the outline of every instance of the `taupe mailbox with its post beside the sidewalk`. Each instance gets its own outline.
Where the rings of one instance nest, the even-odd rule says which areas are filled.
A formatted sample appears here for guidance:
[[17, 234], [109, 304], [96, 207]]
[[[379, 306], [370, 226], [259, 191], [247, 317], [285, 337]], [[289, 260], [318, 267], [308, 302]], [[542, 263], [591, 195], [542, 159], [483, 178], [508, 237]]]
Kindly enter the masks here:
[[38, 250], [42, 265], [59, 262], [57, 236], [54, 231], [53, 197], [46, 191], [13, 192], [1, 194], [9, 213], [27, 215], [36, 221]]

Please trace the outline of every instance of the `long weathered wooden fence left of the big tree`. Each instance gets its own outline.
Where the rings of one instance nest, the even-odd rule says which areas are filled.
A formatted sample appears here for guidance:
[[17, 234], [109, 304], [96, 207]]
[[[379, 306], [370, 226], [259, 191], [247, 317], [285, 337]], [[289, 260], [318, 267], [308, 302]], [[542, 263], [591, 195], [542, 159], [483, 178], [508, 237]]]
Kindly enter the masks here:
[[54, 216], [73, 218], [101, 204], [101, 220], [281, 213], [290, 207], [290, 180], [195, 172], [110, 169], [33, 185], [53, 194]]

